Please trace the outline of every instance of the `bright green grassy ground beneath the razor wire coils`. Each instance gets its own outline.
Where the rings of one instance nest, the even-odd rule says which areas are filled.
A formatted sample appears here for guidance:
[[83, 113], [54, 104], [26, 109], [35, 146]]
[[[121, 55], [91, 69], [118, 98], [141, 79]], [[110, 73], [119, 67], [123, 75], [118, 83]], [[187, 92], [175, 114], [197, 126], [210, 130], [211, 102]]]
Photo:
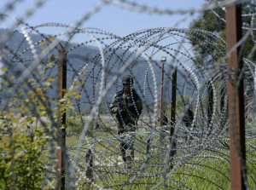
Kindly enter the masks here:
[[[96, 132], [96, 141], [103, 137], [113, 137], [113, 135], [116, 134], [98, 131]], [[67, 137], [67, 147], [76, 141], [79, 141], [76, 136]], [[119, 148], [118, 141], [112, 143]], [[255, 141], [250, 143], [255, 144]], [[137, 144], [141, 143], [137, 141]], [[141, 147], [137, 147], [135, 157], [140, 160], [133, 163], [132, 168], [135, 170], [125, 171], [124, 165], [118, 165], [118, 163], [114, 167], [95, 165], [94, 176], [100, 177], [96, 178], [94, 182], [101, 187], [112, 189], [165, 189], [165, 187], [166, 189], [230, 189], [230, 163], [229, 160], [221, 159], [223, 157], [220, 155], [223, 152], [216, 150], [213, 152], [207, 149], [188, 159], [181, 158], [186, 153], [177, 152], [177, 159], [174, 161], [177, 163], [182, 161], [182, 163], [174, 165], [174, 169], [169, 170], [169, 166], [166, 168], [160, 165], [160, 159], [157, 158], [159, 153], [154, 150], [151, 154], [152, 158], [142, 168], [142, 160], [147, 158], [146, 145], [144, 143]], [[155, 144], [155, 147], [159, 147], [159, 144]], [[119, 156], [119, 149], [114, 149], [108, 141], [97, 142], [94, 148], [97, 153], [102, 153], [103, 156], [100, 159], [105, 163], [108, 163], [106, 157], [118, 158]], [[256, 189], [255, 154], [255, 150], [247, 153], [247, 177], [250, 189]], [[212, 158], [207, 158], [207, 156], [212, 156]], [[229, 159], [228, 155], [224, 155], [224, 158]], [[80, 163], [80, 165], [85, 167], [84, 163]], [[138, 172], [138, 169], [141, 170]], [[97, 187], [94, 188], [97, 189]]]

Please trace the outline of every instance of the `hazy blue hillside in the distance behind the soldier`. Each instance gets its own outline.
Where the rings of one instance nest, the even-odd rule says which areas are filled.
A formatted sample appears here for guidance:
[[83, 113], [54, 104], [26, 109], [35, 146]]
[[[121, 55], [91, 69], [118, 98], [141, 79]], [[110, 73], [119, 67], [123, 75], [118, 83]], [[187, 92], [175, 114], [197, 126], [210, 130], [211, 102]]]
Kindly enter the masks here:
[[[0, 36], [2, 36], [4, 32], [5, 32], [5, 29], [0, 29]], [[39, 34], [31, 34], [30, 37], [33, 43], [36, 43], [44, 38], [42, 35], [39, 35]], [[63, 46], [66, 45], [65, 49], [67, 50], [77, 46], [77, 43], [67, 44], [67, 42], [62, 42], [61, 44]], [[7, 56], [3, 56], [4, 67], [9, 68], [8, 75], [15, 75], [15, 78], [19, 78], [20, 74], [24, 71], [25, 67], [29, 66], [32, 63], [33, 56], [32, 56], [31, 49], [27, 50], [24, 54], [22, 53], [28, 47], [29, 47], [28, 43], [24, 39], [23, 34], [20, 32], [14, 32], [13, 35], [9, 38], [9, 40], [6, 43], [6, 48], [11, 51], [7, 54]], [[42, 52], [42, 50], [45, 47], [46, 47], [45, 44], [42, 46], [38, 46], [38, 44], [35, 45], [35, 49], [37, 50], [38, 54]], [[87, 46], [87, 45], [83, 45], [83, 46], [80, 45], [79, 47], [68, 52], [67, 54], [67, 88], [70, 87], [73, 76], [76, 76], [74, 75], [75, 71], [78, 70], [81, 66], [84, 66], [84, 63], [86, 61], [92, 60], [92, 58], [98, 54], [99, 54], [99, 50], [96, 47]], [[108, 71], [105, 75], [105, 83], [104, 83], [105, 85], [113, 77], [113, 72], [118, 71], [118, 69], [123, 65], [121, 61], [119, 61], [119, 63], [116, 63], [116, 61], [119, 60], [119, 57], [122, 57], [122, 60], [125, 60], [127, 57], [133, 55], [130, 51], [125, 51], [125, 49], [118, 49], [115, 51], [115, 54], [116, 55], [111, 55], [110, 53], [107, 53], [106, 55], [104, 55], [106, 59], [105, 69], [107, 69]], [[17, 55], [20, 55], [19, 62], [14, 61], [14, 60], [19, 60], [17, 59]], [[55, 55], [55, 57], [57, 57], [58, 55], [57, 49], [54, 49], [52, 52], [50, 52], [49, 56], [50, 55]], [[108, 59], [110, 55], [111, 55], [111, 59]], [[83, 99], [80, 101], [92, 102], [98, 96], [99, 87], [100, 87], [99, 79], [101, 78], [102, 72], [100, 72], [100, 66], [95, 65], [94, 61], [96, 60], [90, 61], [89, 65], [86, 67], [86, 70], [89, 71], [90, 73], [84, 76], [84, 89], [79, 89], [80, 91], [82, 91], [82, 96], [83, 96]], [[158, 64], [159, 66], [157, 66], [156, 64]], [[122, 76], [124, 76], [125, 74], [132, 74], [134, 76], [136, 81], [134, 84], [134, 87], [135, 89], [137, 89], [137, 92], [142, 97], [143, 95], [140, 89], [143, 89], [143, 86], [144, 86], [147, 66], [148, 66], [147, 61], [143, 57], [140, 57], [137, 60], [137, 64], [129, 68], [130, 71], [125, 71], [122, 74]], [[160, 95], [160, 63], [153, 62], [153, 68], [155, 72], [154, 74], [155, 74], [156, 82], [158, 83], [158, 89], [159, 89], [158, 94]], [[109, 73], [109, 72], [112, 72], [112, 73]], [[55, 76], [56, 73], [57, 73], [57, 68], [55, 66], [54, 68], [49, 69], [45, 74], [46, 76]], [[121, 89], [122, 76], [120, 76], [119, 78], [118, 85], [113, 85], [113, 88], [108, 92], [107, 101], [111, 101], [116, 91]], [[179, 83], [183, 83], [184, 79], [178, 77], [177, 80]], [[154, 90], [151, 90], [151, 92], [148, 90], [148, 88], [152, 88], [152, 87], [153, 87], [153, 77], [150, 69], [148, 69], [148, 80], [146, 80], [147, 93], [145, 93], [147, 103], [150, 103], [154, 100], [152, 95], [152, 93], [154, 93]], [[22, 88], [25, 91], [28, 90], [25, 87], [22, 87]], [[53, 89], [56, 89], [56, 83], [53, 83]], [[11, 95], [12, 94], [9, 93], [8, 91], [4, 91], [2, 94], [2, 101], [9, 98]], [[55, 96], [56, 96], [55, 90], [50, 90], [49, 97], [52, 98]], [[89, 100], [87, 99], [87, 97]], [[86, 107], [89, 108], [90, 105], [89, 104], [81, 105], [82, 110]]]

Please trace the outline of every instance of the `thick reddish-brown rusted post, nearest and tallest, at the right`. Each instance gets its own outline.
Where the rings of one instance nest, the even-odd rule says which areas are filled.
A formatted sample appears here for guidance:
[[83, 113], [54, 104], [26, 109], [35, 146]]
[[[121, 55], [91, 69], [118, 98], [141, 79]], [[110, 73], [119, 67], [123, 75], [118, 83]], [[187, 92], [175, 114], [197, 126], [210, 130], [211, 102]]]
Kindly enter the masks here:
[[[226, 2], [230, 2], [226, 0]], [[226, 9], [227, 52], [241, 39], [241, 4], [231, 5]], [[228, 57], [228, 72], [234, 76], [229, 78], [229, 119], [230, 119], [230, 176], [231, 189], [246, 189], [246, 152], [245, 152], [245, 120], [243, 78], [238, 82], [242, 60], [238, 57], [237, 47]], [[235, 70], [234, 73], [230, 70]]]

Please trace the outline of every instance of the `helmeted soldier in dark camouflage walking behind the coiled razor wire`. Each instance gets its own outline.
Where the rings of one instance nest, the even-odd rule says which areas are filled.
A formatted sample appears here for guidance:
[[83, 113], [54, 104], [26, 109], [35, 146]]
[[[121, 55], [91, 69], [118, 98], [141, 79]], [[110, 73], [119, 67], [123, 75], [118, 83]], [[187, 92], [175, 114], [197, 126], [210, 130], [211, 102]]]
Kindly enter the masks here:
[[133, 78], [125, 75], [122, 79], [123, 89], [113, 96], [110, 112], [116, 114], [118, 135], [121, 135], [120, 149], [125, 162], [125, 169], [131, 169], [134, 158], [134, 137], [130, 133], [137, 129], [137, 120], [143, 109], [142, 100], [135, 89], [132, 89]]

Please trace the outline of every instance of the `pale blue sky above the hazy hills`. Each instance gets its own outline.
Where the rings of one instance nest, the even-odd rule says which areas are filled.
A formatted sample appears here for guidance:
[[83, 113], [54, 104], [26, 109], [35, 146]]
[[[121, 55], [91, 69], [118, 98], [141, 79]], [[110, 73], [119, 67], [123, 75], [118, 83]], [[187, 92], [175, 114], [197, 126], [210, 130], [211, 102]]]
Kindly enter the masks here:
[[[11, 0], [0, 1], [0, 11], [2, 13], [6, 4], [10, 1]], [[26, 9], [36, 2], [37, 0], [22, 0], [20, 3], [16, 3], [15, 9], [9, 11], [7, 14], [19, 18], [20, 15], [25, 13]], [[48, 22], [71, 25], [99, 2], [99, 0], [46, 0], [44, 5], [35, 11], [25, 22], [30, 26], [37, 26]], [[159, 9], [190, 9], [200, 7], [205, 0], [138, 0], [136, 2], [141, 5]], [[182, 16], [182, 14], [159, 15], [138, 13], [108, 4], [99, 12], [93, 14], [81, 27], [101, 28], [108, 32], [113, 32], [116, 35], [125, 36], [131, 32], [137, 32], [145, 28], [170, 26]], [[188, 20], [183, 21], [177, 27], [188, 27], [189, 21], [191, 21], [192, 18], [193, 17], [190, 17]], [[8, 28], [12, 22], [13, 21], [8, 18], [0, 22], [0, 27]], [[63, 28], [52, 27], [40, 28], [40, 32], [44, 33], [59, 33], [63, 32], [63, 30]], [[75, 40], [80, 41], [78, 38]]]

